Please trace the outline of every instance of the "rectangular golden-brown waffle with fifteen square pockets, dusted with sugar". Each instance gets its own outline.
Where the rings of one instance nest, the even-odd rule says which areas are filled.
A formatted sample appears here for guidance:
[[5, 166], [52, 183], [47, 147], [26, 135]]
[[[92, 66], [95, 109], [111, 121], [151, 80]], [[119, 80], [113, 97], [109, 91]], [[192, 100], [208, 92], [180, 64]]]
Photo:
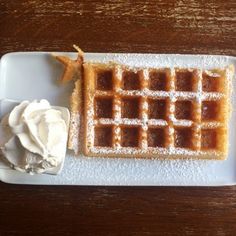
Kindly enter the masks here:
[[226, 158], [233, 66], [200, 70], [84, 63], [83, 69], [86, 155]]

